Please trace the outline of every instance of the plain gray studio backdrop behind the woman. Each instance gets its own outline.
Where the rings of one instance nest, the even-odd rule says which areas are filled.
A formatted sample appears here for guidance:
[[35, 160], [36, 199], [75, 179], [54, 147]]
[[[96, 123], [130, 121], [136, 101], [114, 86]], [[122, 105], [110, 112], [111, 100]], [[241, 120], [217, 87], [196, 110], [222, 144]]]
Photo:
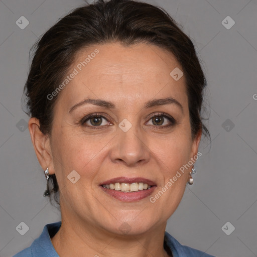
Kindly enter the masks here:
[[[201, 142], [203, 155], [195, 165], [195, 182], [187, 186], [167, 231], [182, 244], [216, 256], [257, 256], [257, 2], [147, 3], [163, 7], [184, 27], [208, 82], [206, 124], [212, 144]], [[28, 247], [45, 224], [60, 220], [59, 211], [43, 197], [46, 181], [27, 129], [29, 117], [21, 109], [21, 96], [32, 44], [60, 17], [82, 4], [81, 0], [0, 1], [2, 257]], [[21, 16], [29, 21], [24, 30], [16, 25]], [[227, 16], [235, 21], [230, 29], [222, 25]], [[229, 20], [225, 23], [231, 24]], [[25, 235], [16, 230], [22, 221], [29, 226]], [[222, 230], [227, 221], [235, 227], [230, 235]], [[230, 231], [231, 225], [225, 228]]]

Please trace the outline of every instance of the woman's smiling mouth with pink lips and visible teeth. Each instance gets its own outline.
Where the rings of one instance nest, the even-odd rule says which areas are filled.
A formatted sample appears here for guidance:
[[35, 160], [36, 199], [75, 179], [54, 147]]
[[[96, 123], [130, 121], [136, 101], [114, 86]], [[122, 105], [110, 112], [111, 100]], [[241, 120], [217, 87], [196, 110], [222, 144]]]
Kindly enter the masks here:
[[100, 183], [101, 189], [120, 201], [139, 201], [151, 195], [157, 185], [145, 178], [119, 177]]

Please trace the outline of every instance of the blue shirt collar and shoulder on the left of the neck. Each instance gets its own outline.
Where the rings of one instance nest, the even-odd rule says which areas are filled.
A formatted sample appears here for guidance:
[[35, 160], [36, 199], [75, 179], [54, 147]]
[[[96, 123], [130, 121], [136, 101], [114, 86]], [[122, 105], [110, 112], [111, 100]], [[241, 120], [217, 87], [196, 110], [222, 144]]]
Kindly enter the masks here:
[[51, 241], [61, 226], [61, 221], [44, 226], [41, 235], [33, 241], [30, 247], [18, 252], [13, 257], [58, 257]]

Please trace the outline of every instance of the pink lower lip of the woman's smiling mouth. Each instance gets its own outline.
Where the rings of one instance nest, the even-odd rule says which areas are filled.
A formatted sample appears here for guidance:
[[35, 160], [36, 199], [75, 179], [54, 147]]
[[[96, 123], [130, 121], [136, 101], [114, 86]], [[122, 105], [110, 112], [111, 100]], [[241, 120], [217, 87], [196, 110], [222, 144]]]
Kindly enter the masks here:
[[152, 186], [150, 189], [146, 189], [146, 190], [139, 190], [133, 193], [123, 193], [121, 191], [116, 191], [114, 189], [107, 189], [107, 188], [103, 188], [102, 186], [100, 187], [108, 195], [124, 202], [134, 202], [134, 201], [142, 200], [150, 196], [156, 188], [156, 186]]

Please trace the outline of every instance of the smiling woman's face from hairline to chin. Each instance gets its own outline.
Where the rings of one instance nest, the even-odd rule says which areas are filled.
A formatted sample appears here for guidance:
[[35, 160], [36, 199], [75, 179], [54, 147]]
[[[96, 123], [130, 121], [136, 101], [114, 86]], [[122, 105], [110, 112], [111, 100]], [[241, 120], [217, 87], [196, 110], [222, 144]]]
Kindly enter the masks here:
[[[115, 234], [166, 224], [191, 168], [173, 177], [197, 154], [200, 140], [191, 138], [185, 77], [170, 75], [176, 67], [182, 70], [172, 54], [143, 43], [77, 54], [58, 95], [42, 166], [56, 174], [62, 218]], [[170, 101], [157, 100], [164, 98]], [[142, 190], [144, 184], [151, 188]]]

